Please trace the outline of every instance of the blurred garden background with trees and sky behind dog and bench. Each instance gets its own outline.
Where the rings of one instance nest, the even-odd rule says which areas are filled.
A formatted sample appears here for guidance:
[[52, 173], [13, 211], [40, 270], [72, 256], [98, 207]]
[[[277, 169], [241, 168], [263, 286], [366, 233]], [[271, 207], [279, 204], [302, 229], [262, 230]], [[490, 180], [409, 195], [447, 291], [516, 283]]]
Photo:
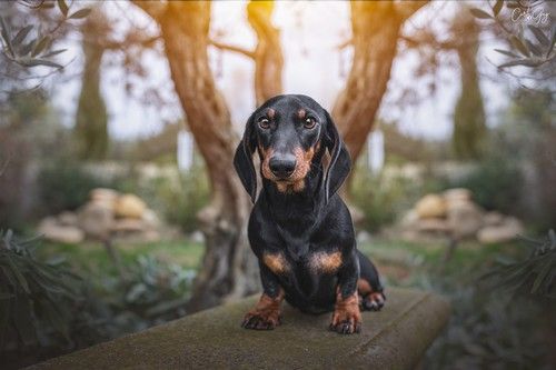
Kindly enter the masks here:
[[556, 366], [554, 2], [20, 0], [0, 16], [2, 363], [257, 292], [231, 158], [258, 104], [305, 93], [355, 159], [358, 248], [387, 287], [451, 302], [425, 368]]

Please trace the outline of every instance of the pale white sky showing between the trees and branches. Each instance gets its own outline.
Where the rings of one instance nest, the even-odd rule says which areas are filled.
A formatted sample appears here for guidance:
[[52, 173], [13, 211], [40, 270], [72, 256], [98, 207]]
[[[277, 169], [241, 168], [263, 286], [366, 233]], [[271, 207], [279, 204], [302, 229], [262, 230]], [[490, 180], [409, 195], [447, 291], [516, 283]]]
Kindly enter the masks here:
[[[211, 33], [221, 34], [218, 40], [230, 44], [254, 49], [255, 36], [249, 28], [246, 1], [215, 1], [212, 4]], [[484, 6], [479, 2], [478, 6]], [[128, 2], [110, 2], [108, 17], [126, 14], [133, 23], [156, 31], [156, 24], [140, 10]], [[433, 2], [420, 10], [406, 23], [405, 31], [428, 22], [443, 27], [443, 19], [449, 19], [457, 11], [456, 2]], [[337, 46], [350, 36], [349, 4], [344, 1], [278, 1], [274, 14], [275, 26], [281, 30], [285, 56], [285, 93], [305, 93], [315, 98], [326, 109], [331, 109], [337, 93], [341, 90], [349, 71], [351, 52], [349, 48], [338, 51]], [[115, 22], [116, 23], [116, 22]], [[122, 31], [126, 22], [117, 31]], [[479, 66], [486, 74], [496, 69], [490, 61], [496, 41], [487, 40], [479, 51]], [[79, 40], [69, 46], [67, 58], [75, 58], [67, 68], [68, 73], [79, 72], [82, 66]], [[250, 59], [214, 48], [209, 50], [211, 68], [216, 82], [228, 101], [232, 121], [241, 131], [245, 120], [255, 107], [252, 89], [254, 63]], [[136, 139], [155, 134], [165, 122], [179, 119], [181, 107], [172, 91], [167, 61], [157, 52], [145, 56], [148, 66], [148, 84], [153, 86], [168, 102], [162, 108], [145, 106], [130, 98], [125, 90], [125, 72], [118, 66], [119, 56], [107, 53], [103, 59], [101, 81], [102, 94], [109, 112], [109, 132], [117, 139]], [[446, 56], [449, 60], [454, 56]], [[484, 59], [488, 59], [488, 62]], [[455, 59], [454, 59], [455, 60]], [[416, 81], [413, 70], [417, 64], [415, 52], [398, 54], [393, 67], [388, 92], [383, 101], [378, 117], [396, 121], [400, 130], [409, 136], [439, 140], [451, 134], [451, 114], [459, 93], [459, 71], [457, 67], [440, 68], [437, 74], [435, 94], [424, 94], [419, 104], [406, 107], [396, 101], [405, 87], [426, 91], [425, 81]], [[136, 80], [138, 86], [147, 86]], [[77, 108], [80, 81], [72, 79], [56, 90], [54, 104], [63, 113], [63, 121], [71, 126]], [[483, 96], [487, 111], [487, 123], [494, 126], [495, 113], [507, 104], [507, 84], [481, 79]]]

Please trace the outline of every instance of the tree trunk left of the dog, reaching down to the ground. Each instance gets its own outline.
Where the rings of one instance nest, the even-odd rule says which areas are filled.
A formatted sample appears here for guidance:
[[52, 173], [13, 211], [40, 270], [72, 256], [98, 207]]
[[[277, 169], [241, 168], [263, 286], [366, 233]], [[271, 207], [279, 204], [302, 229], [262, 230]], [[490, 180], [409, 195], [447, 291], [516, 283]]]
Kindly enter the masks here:
[[209, 68], [210, 2], [167, 2], [158, 18], [176, 92], [211, 183], [211, 203], [199, 213], [206, 252], [193, 283], [190, 312], [258, 288], [258, 268], [245, 232], [251, 203], [231, 159], [238, 138]]

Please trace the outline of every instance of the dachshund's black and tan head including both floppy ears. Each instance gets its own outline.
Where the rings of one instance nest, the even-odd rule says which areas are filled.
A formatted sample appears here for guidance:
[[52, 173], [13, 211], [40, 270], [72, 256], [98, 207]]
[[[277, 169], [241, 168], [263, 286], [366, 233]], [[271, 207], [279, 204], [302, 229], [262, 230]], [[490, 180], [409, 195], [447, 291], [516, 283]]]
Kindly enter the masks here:
[[234, 166], [255, 202], [257, 176], [255, 150], [261, 160], [261, 174], [276, 183], [278, 191], [302, 191], [314, 160], [330, 153], [325, 173], [325, 200], [338, 190], [349, 173], [349, 152], [330, 114], [306, 96], [278, 96], [249, 117]]

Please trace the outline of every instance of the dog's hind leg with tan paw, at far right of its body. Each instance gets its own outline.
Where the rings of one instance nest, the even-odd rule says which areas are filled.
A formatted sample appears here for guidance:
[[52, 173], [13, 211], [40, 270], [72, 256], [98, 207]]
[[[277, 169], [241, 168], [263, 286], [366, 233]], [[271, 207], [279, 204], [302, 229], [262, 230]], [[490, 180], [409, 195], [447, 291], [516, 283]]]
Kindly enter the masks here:
[[379, 311], [386, 301], [386, 296], [384, 294], [378, 271], [373, 262], [360, 251], [357, 251], [357, 257], [359, 258], [359, 267], [361, 269], [359, 280], [357, 281], [357, 291], [361, 297], [361, 309]]

